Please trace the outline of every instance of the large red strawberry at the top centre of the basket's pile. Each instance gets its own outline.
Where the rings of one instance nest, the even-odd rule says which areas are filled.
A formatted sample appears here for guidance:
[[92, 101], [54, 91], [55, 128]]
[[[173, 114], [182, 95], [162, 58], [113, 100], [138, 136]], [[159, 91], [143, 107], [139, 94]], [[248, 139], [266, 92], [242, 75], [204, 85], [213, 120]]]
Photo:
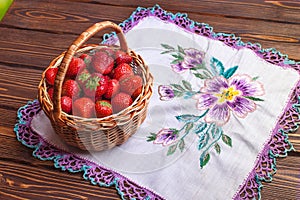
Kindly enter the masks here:
[[92, 66], [101, 74], [109, 74], [114, 67], [114, 59], [107, 53], [99, 51], [93, 56]]

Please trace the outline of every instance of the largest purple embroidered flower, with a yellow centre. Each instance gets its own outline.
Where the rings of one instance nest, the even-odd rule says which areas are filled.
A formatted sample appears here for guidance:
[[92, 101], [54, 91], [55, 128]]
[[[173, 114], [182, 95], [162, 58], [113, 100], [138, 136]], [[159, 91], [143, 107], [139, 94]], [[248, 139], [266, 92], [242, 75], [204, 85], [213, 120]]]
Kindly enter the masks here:
[[240, 118], [253, 112], [256, 109], [254, 100], [258, 100], [255, 96], [263, 95], [264, 89], [262, 84], [248, 75], [235, 75], [228, 80], [223, 76], [208, 79], [200, 92], [195, 95], [198, 99], [197, 108], [209, 109], [205, 121], [224, 125], [230, 118], [230, 111]]

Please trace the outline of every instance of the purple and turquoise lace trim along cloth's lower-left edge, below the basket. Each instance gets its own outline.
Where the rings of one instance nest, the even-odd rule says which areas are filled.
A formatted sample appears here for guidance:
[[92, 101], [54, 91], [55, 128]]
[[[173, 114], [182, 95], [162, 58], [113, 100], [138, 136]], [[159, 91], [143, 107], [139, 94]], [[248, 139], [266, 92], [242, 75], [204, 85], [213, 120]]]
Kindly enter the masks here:
[[122, 199], [163, 199], [151, 190], [135, 184], [117, 172], [60, 150], [43, 140], [30, 128], [32, 117], [40, 110], [37, 100], [21, 107], [18, 111], [18, 123], [14, 128], [17, 139], [24, 145], [35, 149], [34, 157], [41, 160], [53, 160], [54, 166], [63, 171], [68, 170], [73, 173], [83, 171], [83, 178], [91, 181], [94, 185], [115, 186]]

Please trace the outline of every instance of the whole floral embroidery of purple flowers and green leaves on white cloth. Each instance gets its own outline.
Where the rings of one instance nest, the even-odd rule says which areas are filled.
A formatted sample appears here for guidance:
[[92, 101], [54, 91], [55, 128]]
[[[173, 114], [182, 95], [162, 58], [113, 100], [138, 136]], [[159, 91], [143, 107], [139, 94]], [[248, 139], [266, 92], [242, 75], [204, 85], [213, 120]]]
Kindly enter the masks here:
[[184, 123], [182, 128], [163, 128], [158, 133], [151, 133], [148, 142], [168, 146], [167, 155], [172, 155], [179, 149], [185, 149], [185, 137], [194, 133], [198, 137], [200, 153], [200, 167], [203, 168], [210, 160], [210, 150], [221, 153], [219, 141], [232, 147], [232, 139], [223, 131], [223, 126], [229, 121], [231, 113], [238, 118], [245, 118], [248, 113], [256, 110], [256, 102], [263, 101], [257, 96], [264, 95], [264, 88], [257, 81], [258, 77], [251, 78], [247, 74], [235, 74], [238, 66], [225, 70], [222, 62], [212, 57], [209, 65], [204, 62], [203, 51], [181, 46], [174, 48], [162, 44], [165, 49], [161, 54], [171, 54], [174, 60], [171, 68], [176, 73], [191, 73], [204, 81], [198, 91], [194, 91], [192, 84], [182, 80], [180, 84], [160, 85], [158, 93], [161, 101], [170, 101], [174, 98], [193, 98], [197, 101], [196, 109], [200, 115], [184, 114], [176, 116], [179, 122]]

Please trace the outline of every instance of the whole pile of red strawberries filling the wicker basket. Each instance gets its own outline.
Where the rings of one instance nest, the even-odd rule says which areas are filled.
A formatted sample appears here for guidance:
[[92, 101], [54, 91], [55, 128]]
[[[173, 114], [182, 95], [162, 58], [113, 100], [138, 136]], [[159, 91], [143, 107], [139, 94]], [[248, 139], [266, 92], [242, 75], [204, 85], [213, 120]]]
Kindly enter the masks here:
[[[126, 52], [102, 47], [73, 57], [62, 86], [61, 108], [84, 118], [106, 117], [127, 108], [142, 91], [143, 79], [134, 73], [133, 58]], [[45, 72], [53, 99], [58, 68]]]

